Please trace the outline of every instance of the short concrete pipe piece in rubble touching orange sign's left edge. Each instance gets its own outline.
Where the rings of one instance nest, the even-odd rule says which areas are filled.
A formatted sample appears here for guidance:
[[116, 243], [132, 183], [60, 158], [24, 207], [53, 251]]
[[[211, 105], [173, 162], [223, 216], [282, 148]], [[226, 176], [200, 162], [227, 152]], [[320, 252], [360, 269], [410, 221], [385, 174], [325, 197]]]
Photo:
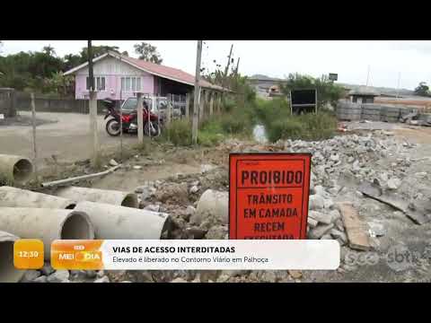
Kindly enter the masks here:
[[229, 194], [207, 189], [198, 201], [198, 214], [211, 214], [224, 224], [229, 220]]

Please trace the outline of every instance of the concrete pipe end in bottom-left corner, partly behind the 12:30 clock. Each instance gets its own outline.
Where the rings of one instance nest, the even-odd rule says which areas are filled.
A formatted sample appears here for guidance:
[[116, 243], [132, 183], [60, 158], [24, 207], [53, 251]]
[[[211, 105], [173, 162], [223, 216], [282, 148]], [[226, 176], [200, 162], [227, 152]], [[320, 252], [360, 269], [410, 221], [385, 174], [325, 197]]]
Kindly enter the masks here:
[[13, 266], [13, 242], [20, 238], [11, 233], [0, 231], [0, 283], [18, 283], [25, 270]]

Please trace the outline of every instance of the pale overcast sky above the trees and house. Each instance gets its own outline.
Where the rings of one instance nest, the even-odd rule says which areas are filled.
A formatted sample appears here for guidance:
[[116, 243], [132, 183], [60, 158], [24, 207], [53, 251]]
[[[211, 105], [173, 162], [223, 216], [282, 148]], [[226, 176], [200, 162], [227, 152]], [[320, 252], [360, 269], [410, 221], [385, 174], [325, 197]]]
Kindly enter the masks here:
[[[133, 45], [142, 40], [93, 40], [93, 45], [119, 46], [136, 56]], [[194, 74], [196, 40], [145, 40], [159, 49], [163, 65]], [[240, 73], [284, 77], [289, 73], [338, 73], [340, 83], [369, 84], [414, 89], [419, 82], [431, 84], [431, 41], [382, 40], [206, 40], [203, 65], [226, 64], [233, 44], [233, 57], [241, 57]], [[78, 53], [86, 40], [4, 40], [1, 55], [40, 50], [50, 45], [58, 56]]]

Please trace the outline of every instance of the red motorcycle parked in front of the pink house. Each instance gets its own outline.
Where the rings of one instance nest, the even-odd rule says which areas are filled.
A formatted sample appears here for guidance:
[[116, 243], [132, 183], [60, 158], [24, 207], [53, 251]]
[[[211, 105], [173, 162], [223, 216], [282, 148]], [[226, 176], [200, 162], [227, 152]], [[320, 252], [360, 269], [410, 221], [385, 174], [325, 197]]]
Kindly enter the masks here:
[[[128, 134], [136, 134], [137, 133], [137, 111], [136, 109], [133, 110], [123, 110], [122, 116], [120, 116], [120, 113], [117, 109], [115, 109], [115, 101], [114, 100], [103, 100], [104, 105], [108, 109], [108, 113], [105, 116], [105, 120], [107, 118], [110, 118], [108, 122], [106, 123], [106, 132], [108, 135], [111, 136], [118, 136], [121, 131], [119, 129], [120, 127], [120, 118], [122, 118], [122, 127], [123, 127], [123, 133]], [[148, 112], [148, 106], [146, 102], [144, 101], [144, 134], [150, 135], [152, 137], [159, 136], [161, 134], [161, 120], [159, 119], [158, 115], [154, 114], [153, 112]], [[149, 115], [148, 115], [149, 113]]]

